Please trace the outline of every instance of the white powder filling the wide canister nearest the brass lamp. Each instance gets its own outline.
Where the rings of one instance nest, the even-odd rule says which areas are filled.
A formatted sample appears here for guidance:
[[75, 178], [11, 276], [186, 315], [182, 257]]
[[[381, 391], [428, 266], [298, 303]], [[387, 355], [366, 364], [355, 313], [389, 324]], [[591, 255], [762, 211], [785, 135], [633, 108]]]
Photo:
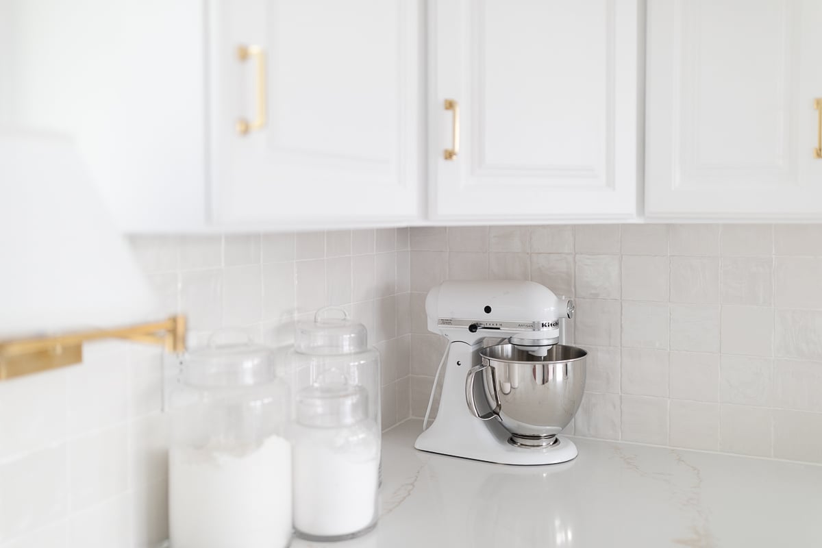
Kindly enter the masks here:
[[279, 548], [292, 533], [291, 444], [169, 452], [171, 548]]

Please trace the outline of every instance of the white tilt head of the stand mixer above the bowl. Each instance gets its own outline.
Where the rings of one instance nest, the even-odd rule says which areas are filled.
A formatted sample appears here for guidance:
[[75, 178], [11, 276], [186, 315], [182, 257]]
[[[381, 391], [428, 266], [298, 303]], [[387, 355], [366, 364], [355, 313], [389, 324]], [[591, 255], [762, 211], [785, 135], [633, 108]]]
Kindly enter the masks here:
[[535, 282], [459, 280], [428, 292], [425, 310], [428, 329], [451, 340], [508, 337], [517, 348], [545, 356], [560, 342], [559, 320], [573, 315], [574, 302]]

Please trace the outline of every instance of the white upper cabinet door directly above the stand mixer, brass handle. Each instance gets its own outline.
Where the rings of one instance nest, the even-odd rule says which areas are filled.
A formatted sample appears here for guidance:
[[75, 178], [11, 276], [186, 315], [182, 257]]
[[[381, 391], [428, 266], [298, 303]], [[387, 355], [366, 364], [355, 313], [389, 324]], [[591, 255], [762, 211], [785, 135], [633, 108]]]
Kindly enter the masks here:
[[636, 0], [428, 6], [432, 217], [635, 214]]

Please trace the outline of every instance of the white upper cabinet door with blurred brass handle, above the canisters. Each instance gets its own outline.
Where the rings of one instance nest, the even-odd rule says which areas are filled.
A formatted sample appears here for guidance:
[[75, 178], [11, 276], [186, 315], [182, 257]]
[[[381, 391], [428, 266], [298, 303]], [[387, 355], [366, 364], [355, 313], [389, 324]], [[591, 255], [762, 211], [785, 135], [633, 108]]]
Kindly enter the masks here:
[[212, 0], [216, 223], [418, 216], [420, 14], [409, 0]]

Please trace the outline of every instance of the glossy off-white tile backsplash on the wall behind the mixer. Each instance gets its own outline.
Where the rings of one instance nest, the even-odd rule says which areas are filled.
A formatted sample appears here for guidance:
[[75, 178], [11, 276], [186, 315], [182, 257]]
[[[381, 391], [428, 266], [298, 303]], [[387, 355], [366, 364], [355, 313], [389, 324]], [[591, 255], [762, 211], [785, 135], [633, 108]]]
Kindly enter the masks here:
[[569, 431], [822, 463], [822, 226], [624, 224], [412, 228], [411, 404], [444, 339], [444, 279], [531, 279], [575, 297], [589, 351]]

